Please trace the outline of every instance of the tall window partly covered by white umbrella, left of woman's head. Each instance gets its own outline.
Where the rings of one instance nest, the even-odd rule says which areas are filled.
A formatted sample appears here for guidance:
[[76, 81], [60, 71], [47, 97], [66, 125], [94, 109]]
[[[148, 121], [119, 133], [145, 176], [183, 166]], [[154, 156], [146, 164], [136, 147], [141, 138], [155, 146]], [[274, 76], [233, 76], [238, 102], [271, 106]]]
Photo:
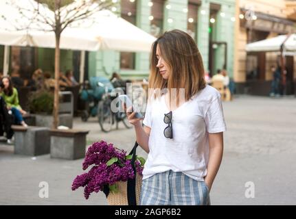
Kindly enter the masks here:
[[[136, 25], [136, 1], [122, 0], [121, 1], [121, 16], [126, 21]], [[121, 52], [120, 53], [120, 68], [135, 69], [135, 53]]]

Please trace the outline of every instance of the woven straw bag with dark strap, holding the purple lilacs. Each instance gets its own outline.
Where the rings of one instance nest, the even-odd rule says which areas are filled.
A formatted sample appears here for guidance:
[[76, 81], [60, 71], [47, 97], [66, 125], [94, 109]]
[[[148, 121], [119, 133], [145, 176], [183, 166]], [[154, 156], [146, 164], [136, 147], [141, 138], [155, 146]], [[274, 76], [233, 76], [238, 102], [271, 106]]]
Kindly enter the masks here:
[[133, 150], [129, 155], [133, 155], [131, 164], [133, 171], [135, 172], [134, 179], [128, 179], [128, 181], [119, 181], [116, 183], [117, 192], [109, 192], [109, 188], [104, 188], [104, 193], [109, 205], [137, 205], [141, 195], [142, 176], [135, 170], [135, 157], [138, 143], [135, 142]]

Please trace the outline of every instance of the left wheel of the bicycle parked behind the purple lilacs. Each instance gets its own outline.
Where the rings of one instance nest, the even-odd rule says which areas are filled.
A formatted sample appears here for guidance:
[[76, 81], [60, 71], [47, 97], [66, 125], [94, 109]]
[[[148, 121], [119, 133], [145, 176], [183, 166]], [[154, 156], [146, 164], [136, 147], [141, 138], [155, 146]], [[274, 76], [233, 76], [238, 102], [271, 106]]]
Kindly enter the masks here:
[[98, 103], [98, 119], [102, 131], [111, 131], [114, 120], [111, 112], [110, 101], [105, 100]]

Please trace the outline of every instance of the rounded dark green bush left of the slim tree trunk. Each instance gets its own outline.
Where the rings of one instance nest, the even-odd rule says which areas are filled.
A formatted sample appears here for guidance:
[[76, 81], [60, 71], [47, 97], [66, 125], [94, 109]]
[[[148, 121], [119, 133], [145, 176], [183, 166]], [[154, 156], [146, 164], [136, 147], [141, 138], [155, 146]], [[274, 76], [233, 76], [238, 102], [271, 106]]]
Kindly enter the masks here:
[[54, 94], [47, 90], [33, 92], [29, 98], [29, 108], [33, 114], [52, 114]]

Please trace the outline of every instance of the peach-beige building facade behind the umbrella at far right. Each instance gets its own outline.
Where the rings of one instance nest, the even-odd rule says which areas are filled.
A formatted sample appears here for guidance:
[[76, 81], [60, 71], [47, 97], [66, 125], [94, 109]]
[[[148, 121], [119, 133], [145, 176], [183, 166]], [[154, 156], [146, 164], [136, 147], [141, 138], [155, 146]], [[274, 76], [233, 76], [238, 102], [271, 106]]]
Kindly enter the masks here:
[[[269, 95], [273, 72], [280, 63], [280, 52], [249, 52], [246, 44], [296, 32], [295, 2], [284, 0], [239, 0], [236, 18], [234, 81], [238, 93]], [[294, 93], [295, 55], [286, 60], [286, 94]]]

